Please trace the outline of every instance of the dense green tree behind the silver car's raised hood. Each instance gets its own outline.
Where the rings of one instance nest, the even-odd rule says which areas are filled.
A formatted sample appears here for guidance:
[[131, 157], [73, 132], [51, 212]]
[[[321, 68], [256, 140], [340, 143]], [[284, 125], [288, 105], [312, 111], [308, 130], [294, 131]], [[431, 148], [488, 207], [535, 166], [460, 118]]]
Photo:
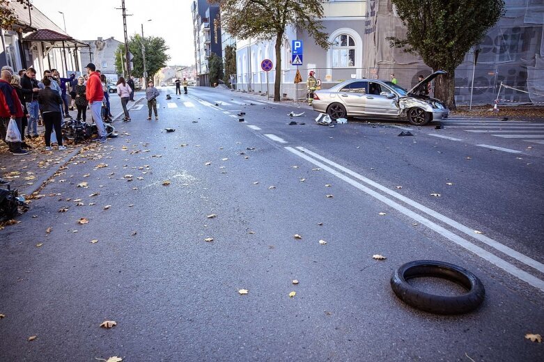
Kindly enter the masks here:
[[391, 0], [407, 27], [405, 39], [387, 38], [393, 47], [419, 54], [437, 77], [435, 96], [455, 109], [455, 70], [504, 15], [504, 0]]

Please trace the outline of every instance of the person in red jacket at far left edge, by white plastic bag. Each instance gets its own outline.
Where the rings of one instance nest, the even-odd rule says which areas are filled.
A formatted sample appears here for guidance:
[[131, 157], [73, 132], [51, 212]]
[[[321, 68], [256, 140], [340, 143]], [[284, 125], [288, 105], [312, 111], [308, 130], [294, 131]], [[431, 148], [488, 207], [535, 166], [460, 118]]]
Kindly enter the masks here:
[[28, 151], [22, 150], [20, 141], [6, 141], [10, 122], [15, 122], [17, 128], [21, 129], [21, 118], [24, 116], [21, 101], [17, 97], [15, 88], [11, 86], [12, 72], [13, 69], [4, 66], [0, 73], [0, 137], [8, 144], [13, 155], [26, 155]]

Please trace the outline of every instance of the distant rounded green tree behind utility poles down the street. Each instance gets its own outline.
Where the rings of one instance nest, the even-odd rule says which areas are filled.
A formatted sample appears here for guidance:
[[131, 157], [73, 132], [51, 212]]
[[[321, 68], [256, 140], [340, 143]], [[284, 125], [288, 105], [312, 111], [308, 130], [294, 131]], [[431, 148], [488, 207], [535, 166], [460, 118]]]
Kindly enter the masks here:
[[[166, 67], [166, 62], [169, 61], [170, 56], [166, 54], [169, 47], [163, 38], [155, 36], [146, 36], [142, 38], [139, 34], [134, 34], [128, 40], [128, 51], [132, 53], [132, 64], [134, 65], [130, 74], [134, 77], [143, 77], [143, 55], [141, 54], [141, 47], [146, 49], [146, 67], [148, 71], [148, 77], [153, 78], [161, 68]], [[119, 44], [115, 56], [115, 68], [118, 74], [125, 73], [123, 70], [123, 63], [125, 62], [125, 45]], [[126, 68], [126, 65], [125, 65]]]

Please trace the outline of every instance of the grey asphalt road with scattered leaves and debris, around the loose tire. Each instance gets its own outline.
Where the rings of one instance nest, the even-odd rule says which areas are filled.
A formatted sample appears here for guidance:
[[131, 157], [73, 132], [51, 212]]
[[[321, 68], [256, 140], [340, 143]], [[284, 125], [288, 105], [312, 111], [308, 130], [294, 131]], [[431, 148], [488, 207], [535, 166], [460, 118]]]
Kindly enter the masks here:
[[[329, 128], [288, 104], [171, 91], [160, 120], [133, 109], [120, 137], [84, 150], [0, 231], [1, 361], [544, 359], [524, 338], [544, 334], [538, 138], [467, 132], [490, 120]], [[419, 259], [474, 272], [482, 306], [403, 304], [389, 279]]]

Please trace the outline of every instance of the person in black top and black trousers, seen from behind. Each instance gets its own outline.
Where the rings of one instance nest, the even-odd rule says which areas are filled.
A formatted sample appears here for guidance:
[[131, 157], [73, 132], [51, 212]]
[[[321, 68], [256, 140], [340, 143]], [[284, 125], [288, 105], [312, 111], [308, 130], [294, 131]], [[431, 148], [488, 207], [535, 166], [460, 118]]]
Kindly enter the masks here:
[[51, 88], [51, 84], [55, 80], [53, 77], [43, 79], [44, 89], [40, 89], [38, 93], [38, 102], [40, 102], [40, 110], [42, 111], [43, 124], [45, 125], [45, 150], [52, 151], [51, 134], [55, 129], [56, 144], [59, 145], [59, 150], [65, 150], [66, 146], [62, 144], [62, 109], [63, 100], [57, 91]]

